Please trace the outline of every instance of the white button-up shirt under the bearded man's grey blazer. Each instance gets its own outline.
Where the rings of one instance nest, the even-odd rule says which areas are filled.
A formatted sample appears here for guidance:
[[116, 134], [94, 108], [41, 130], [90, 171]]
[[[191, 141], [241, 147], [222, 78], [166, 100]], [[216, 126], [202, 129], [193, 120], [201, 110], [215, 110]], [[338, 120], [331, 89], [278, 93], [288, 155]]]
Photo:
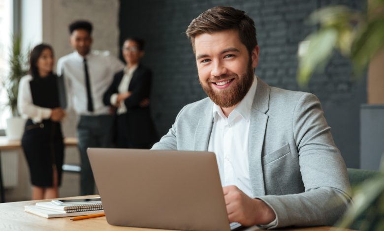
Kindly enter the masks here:
[[216, 154], [222, 186], [236, 185], [252, 198], [248, 165], [248, 134], [257, 78], [244, 99], [229, 114], [214, 104], [213, 126], [208, 151]]

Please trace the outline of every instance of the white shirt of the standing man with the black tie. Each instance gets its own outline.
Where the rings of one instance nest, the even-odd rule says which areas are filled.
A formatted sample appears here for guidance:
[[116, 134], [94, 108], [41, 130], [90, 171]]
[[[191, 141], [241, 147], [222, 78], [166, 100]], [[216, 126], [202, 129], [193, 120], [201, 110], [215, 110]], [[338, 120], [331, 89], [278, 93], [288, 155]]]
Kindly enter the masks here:
[[[94, 112], [89, 112], [87, 87], [85, 84], [84, 58], [87, 59]], [[78, 115], [106, 115], [108, 106], [103, 104], [103, 95], [112, 83], [113, 75], [124, 68], [123, 62], [109, 52], [91, 51], [82, 57], [76, 51], [59, 59], [57, 73], [64, 73], [67, 107], [72, 107]]]

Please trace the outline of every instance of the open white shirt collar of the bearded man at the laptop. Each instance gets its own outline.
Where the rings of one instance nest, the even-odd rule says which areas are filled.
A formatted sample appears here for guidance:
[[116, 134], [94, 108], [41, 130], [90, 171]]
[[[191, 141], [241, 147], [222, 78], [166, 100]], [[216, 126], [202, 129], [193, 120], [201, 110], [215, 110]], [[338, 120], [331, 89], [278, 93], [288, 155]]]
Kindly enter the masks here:
[[[255, 75], [254, 81], [253, 81], [250, 89], [248, 90], [247, 94], [240, 101], [240, 103], [236, 106], [236, 108], [229, 114], [228, 119], [230, 119], [231, 117], [236, 117], [236, 116], [233, 116], [232, 113], [234, 115], [239, 114], [246, 120], [249, 120], [251, 118], [251, 109], [252, 109], [252, 104], [253, 104], [254, 98], [255, 98], [256, 87], [257, 87], [257, 77]], [[223, 110], [220, 108], [220, 106], [218, 106], [215, 103], [213, 104], [212, 115], [213, 115], [214, 121], [216, 121], [218, 119], [217, 116], [220, 116], [220, 117], [226, 119], [226, 117], [223, 113]]]

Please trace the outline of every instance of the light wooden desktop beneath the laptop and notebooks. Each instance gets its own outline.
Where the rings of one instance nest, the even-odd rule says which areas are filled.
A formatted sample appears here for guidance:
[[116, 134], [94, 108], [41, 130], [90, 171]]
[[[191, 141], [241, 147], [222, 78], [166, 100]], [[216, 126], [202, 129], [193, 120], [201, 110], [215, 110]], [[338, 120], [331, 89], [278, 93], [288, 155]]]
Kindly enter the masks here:
[[[86, 196], [96, 197], [98, 195]], [[84, 198], [72, 197], [73, 198]], [[81, 231], [164, 231], [159, 229], [144, 229], [134, 227], [120, 227], [111, 226], [107, 223], [105, 217], [97, 217], [79, 221], [71, 221], [69, 217], [61, 218], [43, 218], [37, 215], [24, 211], [24, 205], [33, 205], [35, 202], [48, 202], [49, 200], [41, 201], [27, 201], [27, 202], [10, 202], [0, 204], [0, 230], [39, 230], [39, 231], [67, 231], [67, 230], [81, 230]], [[248, 228], [247, 231], [258, 231], [256, 227]], [[279, 231], [332, 231], [332, 227], [311, 227], [311, 228], [290, 228], [279, 229]], [[348, 231], [348, 230], [345, 230]]]

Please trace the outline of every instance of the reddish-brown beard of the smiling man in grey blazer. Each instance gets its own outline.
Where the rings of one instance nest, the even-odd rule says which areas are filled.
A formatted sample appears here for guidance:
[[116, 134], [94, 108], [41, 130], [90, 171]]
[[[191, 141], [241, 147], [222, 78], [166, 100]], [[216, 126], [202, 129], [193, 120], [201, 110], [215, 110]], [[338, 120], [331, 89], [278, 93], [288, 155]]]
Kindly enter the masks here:
[[[229, 77], [229, 78], [228, 78]], [[220, 90], [216, 92], [211, 86], [211, 82], [219, 82], [221, 79], [236, 79], [235, 86], [229, 86], [228, 89]], [[254, 70], [252, 64], [249, 63], [247, 67], [247, 73], [241, 75], [240, 77], [237, 74], [232, 75], [223, 75], [218, 78], [210, 78], [207, 80], [208, 85], [203, 85], [200, 81], [201, 87], [205, 93], [211, 98], [211, 100], [221, 108], [229, 108], [237, 103], [239, 103], [247, 94], [249, 88], [251, 88], [254, 80]]]

